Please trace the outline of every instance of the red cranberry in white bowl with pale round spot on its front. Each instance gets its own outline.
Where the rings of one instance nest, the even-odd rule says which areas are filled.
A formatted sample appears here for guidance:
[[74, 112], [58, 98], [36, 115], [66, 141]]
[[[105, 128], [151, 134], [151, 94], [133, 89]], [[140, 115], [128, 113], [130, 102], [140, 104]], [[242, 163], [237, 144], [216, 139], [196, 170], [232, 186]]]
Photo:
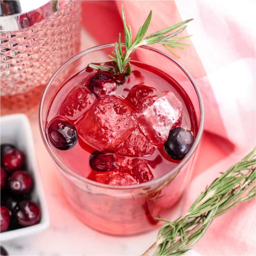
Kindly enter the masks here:
[[8, 179], [8, 187], [14, 194], [26, 194], [33, 185], [30, 174], [26, 171], [15, 171]]

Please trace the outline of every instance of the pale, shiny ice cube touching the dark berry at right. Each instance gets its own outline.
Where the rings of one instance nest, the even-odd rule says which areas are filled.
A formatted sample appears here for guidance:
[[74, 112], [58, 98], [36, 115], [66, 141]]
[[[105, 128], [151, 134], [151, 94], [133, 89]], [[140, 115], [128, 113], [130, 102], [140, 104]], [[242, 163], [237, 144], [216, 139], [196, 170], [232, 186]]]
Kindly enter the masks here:
[[158, 92], [146, 96], [134, 113], [141, 132], [154, 144], [164, 143], [170, 129], [179, 126], [182, 119], [182, 104], [172, 92]]

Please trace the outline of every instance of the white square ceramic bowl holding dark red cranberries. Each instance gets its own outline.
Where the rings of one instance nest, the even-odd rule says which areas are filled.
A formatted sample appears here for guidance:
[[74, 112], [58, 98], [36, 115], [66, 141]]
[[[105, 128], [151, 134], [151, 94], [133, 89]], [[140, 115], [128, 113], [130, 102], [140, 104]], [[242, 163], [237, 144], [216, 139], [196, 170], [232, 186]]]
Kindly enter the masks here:
[[1, 241], [49, 227], [32, 132], [23, 114], [1, 117]]

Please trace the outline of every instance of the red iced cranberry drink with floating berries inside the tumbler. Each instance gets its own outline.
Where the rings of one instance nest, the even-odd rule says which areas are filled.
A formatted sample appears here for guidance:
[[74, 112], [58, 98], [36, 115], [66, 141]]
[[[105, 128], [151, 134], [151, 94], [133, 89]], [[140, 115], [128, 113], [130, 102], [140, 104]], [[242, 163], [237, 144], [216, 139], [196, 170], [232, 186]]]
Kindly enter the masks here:
[[[76, 215], [115, 235], [161, 224], [156, 217], [166, 216], [188, 181], [188, 174], [176, 166], [198, 133], [186, 90], [161, 69], [131, 60], [144, 35], [132, 43], [127, 31], [126, 53], [119, 42], [110, 56], [113, 61], [85, 64], [52, 93], [43, 128], [51, 154], [80, 180], [61, 172]], [[154, 43], [155, 37], [149, 39]]]

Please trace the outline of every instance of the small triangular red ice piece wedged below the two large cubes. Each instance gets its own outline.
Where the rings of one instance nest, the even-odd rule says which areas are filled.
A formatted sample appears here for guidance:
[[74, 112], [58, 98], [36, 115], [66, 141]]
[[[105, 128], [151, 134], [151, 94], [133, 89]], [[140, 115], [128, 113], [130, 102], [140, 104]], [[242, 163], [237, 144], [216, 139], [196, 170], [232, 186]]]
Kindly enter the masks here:
[[155, 147], [137, 128], [118, 146], [115, 153], [120, 156], [147, 156], [154, 151]]

